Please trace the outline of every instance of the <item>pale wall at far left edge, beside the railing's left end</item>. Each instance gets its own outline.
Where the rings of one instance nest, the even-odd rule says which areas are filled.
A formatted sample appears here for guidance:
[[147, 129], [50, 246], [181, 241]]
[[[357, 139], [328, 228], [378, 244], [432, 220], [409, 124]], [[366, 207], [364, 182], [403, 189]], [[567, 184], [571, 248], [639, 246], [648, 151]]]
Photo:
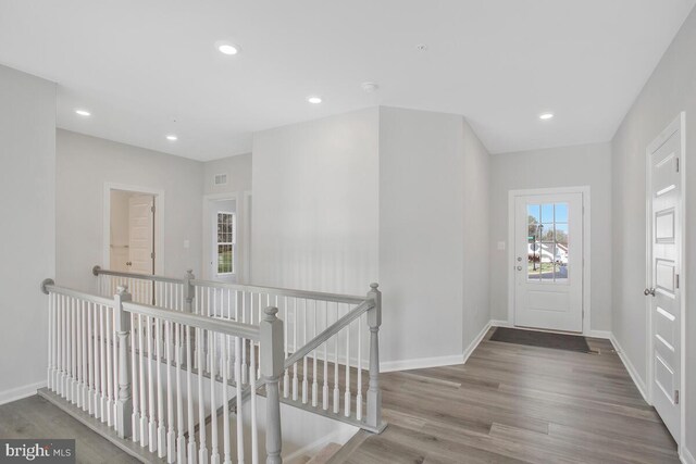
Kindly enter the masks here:
[[0, 403], [46, 381], [47, 297], [55, 273], [55, 85], [0, 66]]

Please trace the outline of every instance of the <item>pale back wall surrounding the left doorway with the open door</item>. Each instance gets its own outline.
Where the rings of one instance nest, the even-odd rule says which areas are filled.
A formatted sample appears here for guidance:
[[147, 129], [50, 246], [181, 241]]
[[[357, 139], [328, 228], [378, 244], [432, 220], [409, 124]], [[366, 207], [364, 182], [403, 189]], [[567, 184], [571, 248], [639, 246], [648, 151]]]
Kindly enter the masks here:
[[105, 183], [163, 190], [164, 274], [200, 273], [202, 163], [66, 130], [58, 130], [57, 141], [57, 283], [94, 289]]

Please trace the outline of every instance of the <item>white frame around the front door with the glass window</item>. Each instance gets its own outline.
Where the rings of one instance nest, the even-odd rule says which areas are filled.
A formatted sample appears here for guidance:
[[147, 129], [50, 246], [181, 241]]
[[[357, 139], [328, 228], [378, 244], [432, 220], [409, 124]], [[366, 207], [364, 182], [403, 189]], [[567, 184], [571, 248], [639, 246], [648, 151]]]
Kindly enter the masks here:
[[[526, 197], [532, 195], [560, 195], [560, 193], [582, 193], [583, 196], [583, 211], [581, 216], [583, 218], [583, 331], [584, 336], [593, 336], [591, 324], [591, 283], [589, 283], [589, 256], [591, 256], [591, 202], [589, 202], [589, 186], [577, 187], [549, 187], [549, 188], [534, 188], [534, 189], [518, 189], [508, 191], [508, 324], [510, 327], [514, 327], [514, 292], [517, 286], [514, 285], [514, 202], [517, 197]], [[539, 329], [543, 331], [554, 331]], [[599, 337], [606, 338], [604, 333], [601, 335], [596, 334]]]

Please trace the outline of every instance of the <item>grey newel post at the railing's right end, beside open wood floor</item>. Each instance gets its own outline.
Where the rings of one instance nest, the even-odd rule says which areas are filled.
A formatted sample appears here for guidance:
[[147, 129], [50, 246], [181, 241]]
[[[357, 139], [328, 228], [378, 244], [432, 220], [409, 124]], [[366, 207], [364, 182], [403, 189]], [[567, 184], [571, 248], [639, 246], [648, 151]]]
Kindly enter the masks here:
[[374, 306], [368, 310], [368, 325], [370, 326], [370, 386], [368, 388], [369, 426], [380, 427], [382, 424], [382, 390], [380, 389], [380, 326], [382, 325], [382, 292], [378, 284], [370, 284], [368, 298], [374, 301]]

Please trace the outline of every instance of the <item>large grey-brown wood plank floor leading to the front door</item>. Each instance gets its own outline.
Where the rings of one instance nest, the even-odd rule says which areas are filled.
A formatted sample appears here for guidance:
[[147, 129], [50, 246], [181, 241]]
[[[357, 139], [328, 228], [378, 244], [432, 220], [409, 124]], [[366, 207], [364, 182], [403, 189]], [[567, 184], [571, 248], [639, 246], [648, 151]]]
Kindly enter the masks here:
[[383, 374], [389, 426], [331, 462], [679, 463], [608, 340], [587, 354], [489, 335], [465, 365]]

